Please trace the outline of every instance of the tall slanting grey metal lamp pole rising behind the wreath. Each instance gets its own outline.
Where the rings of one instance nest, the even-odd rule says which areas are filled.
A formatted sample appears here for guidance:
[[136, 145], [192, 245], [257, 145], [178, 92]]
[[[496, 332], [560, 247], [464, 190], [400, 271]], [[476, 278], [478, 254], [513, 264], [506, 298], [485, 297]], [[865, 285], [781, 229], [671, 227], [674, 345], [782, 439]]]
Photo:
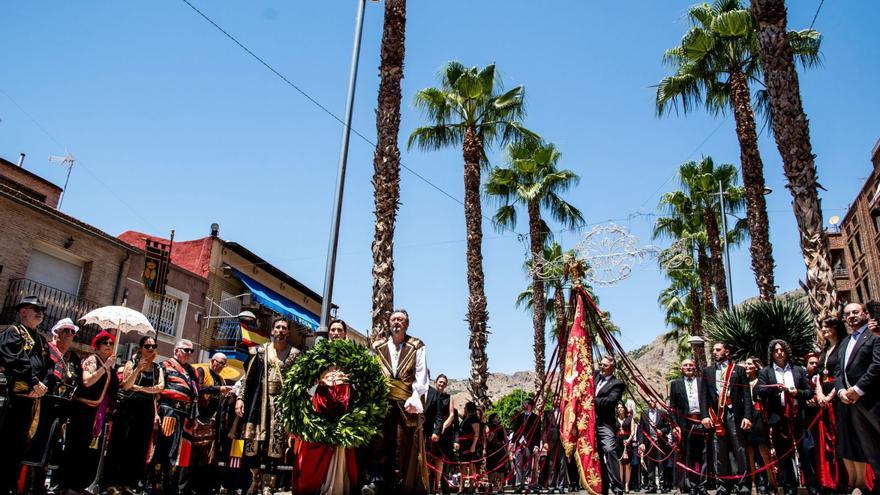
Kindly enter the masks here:
[[348, 99], [345, 103], [345, 126], [342, 128], [342, 144], [339, 149], [339, 174], [336, 178], [336, 196], [333, 201], [333, 216], [330, 221], [330, 243], [327, 246], [327, 270], [324, 273], [324, 295], [321, 301], [321, 324], [319, 334], [327, 333], [330, 321], [330, 307], [333, 301], [333, 277], [336, 273], [336, 248], [339, 244], [339, 220], [342, 217], [342, 196], [345, 190], [345, 167], [348, 164], [348, 140], [351, 137], [351, 114], [354, 107], [354, 92], [357, 85], [357, 66], [361, 54], [361, 33], [364, 29], [364, 5], [366, 0], [358, 0], [357, 18], [354, 24], [354, 46], [351, 50], [351, 71], [348, 76]]

